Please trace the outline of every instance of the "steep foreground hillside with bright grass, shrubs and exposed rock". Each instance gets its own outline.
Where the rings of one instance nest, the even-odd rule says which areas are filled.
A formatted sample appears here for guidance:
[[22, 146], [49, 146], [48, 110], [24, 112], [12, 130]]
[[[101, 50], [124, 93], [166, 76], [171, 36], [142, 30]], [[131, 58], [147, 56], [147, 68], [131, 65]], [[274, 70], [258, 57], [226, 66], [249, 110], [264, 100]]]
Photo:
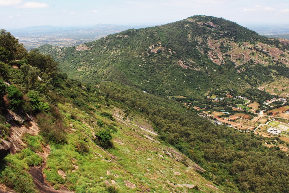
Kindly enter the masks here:
[[1, 192], [222, 192], [105, 85], [69, 79], [3, 29], [0, 49]]

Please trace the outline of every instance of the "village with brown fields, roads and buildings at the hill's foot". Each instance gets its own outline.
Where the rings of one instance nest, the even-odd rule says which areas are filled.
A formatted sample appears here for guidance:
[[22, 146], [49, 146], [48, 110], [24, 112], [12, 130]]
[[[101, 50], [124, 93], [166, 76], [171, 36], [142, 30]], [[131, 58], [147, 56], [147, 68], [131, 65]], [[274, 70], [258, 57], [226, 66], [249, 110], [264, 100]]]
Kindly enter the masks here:
[[[226, 125], [240, 132], [251, 132], [263, 137], [279, 137], [289, 142], [289, 105], [284, 98], [272, 98], [262, 104], [242, 96], [210, 97], [213, 104], [224, 101], [225, 106], [213, 105], [212, 109], [193, 106], [198, 115], [216, 125]], [[242, 102], [229, 105], [230, 101]], [[223, 104], [223, 103], [222, 103]], [[191, 104], [184, 103], [185, 106]]]

